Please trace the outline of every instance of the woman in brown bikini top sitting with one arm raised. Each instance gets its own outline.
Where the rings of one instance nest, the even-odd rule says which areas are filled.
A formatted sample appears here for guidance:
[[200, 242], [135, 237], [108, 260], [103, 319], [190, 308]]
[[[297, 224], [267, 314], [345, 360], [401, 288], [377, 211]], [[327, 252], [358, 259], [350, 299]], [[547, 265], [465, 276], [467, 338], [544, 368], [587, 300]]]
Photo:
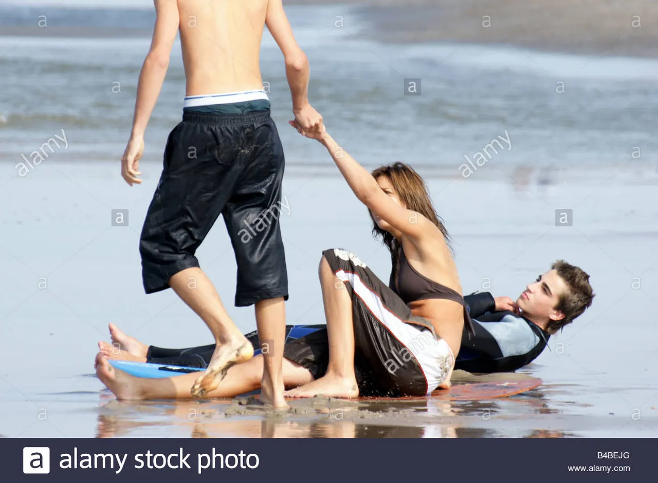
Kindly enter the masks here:
[[[284, 384], [293, 387], [286, 396], [424, 396], [449, 387], [465, 324], [468, 333], [473, 329], [447, 231], [424, 181], [402, 163], [370, 174], [326, 131], [307, 134], [290, 124], [331, 154], [367, 206], [373, 232], [390, 251], [393, 269], [386, 285], [355, 254], [340, 249], [322, 253], [319, 276], [328, 361], [323, 363], [319, 352], [324, 351], [318, 351], [313, 334], [286, 344]], [[113, 336], [132, 352], [127, 338], [121, 340], [116, 331]], [[145, 358], [139, 352], [143, 347], [136, 352]], [[258, 388], [262, 357], [231, 367], [207, 396], [233, 397]], [[186, 398], [195, 380], [194, 374], [138, 379], [111, 367], [103, 350], [96, 369], [119, 399]]]

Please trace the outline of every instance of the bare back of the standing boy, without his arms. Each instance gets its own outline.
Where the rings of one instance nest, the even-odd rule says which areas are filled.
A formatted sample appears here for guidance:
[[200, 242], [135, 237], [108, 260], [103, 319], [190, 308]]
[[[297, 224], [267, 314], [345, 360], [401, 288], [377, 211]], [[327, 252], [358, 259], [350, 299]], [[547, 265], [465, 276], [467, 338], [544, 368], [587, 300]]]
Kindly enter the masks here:
[[261, 37], [267, 0], [178, 0], [186, 95], [263, 89]]

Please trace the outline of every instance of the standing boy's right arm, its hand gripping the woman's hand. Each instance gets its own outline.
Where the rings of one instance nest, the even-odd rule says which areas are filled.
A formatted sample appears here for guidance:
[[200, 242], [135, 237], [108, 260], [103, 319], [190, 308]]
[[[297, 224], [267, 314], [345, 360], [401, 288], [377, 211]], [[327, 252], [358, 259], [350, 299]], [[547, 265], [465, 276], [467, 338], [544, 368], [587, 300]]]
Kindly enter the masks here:
[[270, 34], [274, 37], [286, 60], [286, 78], [290, 85], [292, 110], [303, 129], [321, 130], [322, 116], [309, 104], [309, 60], [297, 45], [282, 0], [269, 0], [265, 17]]

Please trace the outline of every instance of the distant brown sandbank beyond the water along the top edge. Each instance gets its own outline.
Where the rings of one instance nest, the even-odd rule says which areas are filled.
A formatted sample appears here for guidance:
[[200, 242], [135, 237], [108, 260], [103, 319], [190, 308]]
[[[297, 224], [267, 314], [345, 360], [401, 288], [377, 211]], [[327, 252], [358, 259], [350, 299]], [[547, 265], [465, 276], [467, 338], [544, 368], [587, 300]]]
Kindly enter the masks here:
[[[595, 56], [658, 57], [658, 9], [649, 0], [286, 0], [326, 5], [328, 22], [345, 7], [372, 26], [359, 34], [384, 42], [513, 45]], [[35, 7], [38, 11], [38, 7]], [[345, 20], [349, 29], [349, 15]], [[151, 28], [2, 27], [1, 35], [141, 37]]]

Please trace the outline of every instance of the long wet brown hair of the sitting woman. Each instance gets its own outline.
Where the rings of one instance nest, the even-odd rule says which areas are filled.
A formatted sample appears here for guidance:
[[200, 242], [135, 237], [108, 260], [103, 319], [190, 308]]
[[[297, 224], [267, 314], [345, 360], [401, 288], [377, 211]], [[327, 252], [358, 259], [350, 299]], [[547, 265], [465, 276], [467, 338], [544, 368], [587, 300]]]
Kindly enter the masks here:
[[[432, 221], [432, 223], [440, 229], [443, 238], [445, 239], [445, 243], [452, 251], [450, 235], [448, 235], [448, 231], [445, 229], [445, 225], [443, 225], [443, 219], [436, 214], [436, 210], [432, 204], [432, 199], [427, 192], [427, 185], [422, 177], [420, 177], [411, 166], [401, 162], [396, 162], [389, 164], [388, 166], [381, 166], [371, 174], [374, 179], [377, 179], [380, 176], [388, 177], [395, 189], [395, 193], [397, 193], [397, 197], [404, 206], [406, 206], [408, 210], [420, 213], [422, 216]], [[388, 250], [391, 252], [393, 258], [395, 258], [395, 239], [393, 238], [393, 235], [377, 226], [374, 218], [372, 218], [372, 213], [370, 213], [370, 219], [372, 219], [372, 235], [374, 235], [375, 238], [381, 238], [382, 242], [384, 242]], [[395, 264], [393, 264], [393, 267], [395, 267]]]

